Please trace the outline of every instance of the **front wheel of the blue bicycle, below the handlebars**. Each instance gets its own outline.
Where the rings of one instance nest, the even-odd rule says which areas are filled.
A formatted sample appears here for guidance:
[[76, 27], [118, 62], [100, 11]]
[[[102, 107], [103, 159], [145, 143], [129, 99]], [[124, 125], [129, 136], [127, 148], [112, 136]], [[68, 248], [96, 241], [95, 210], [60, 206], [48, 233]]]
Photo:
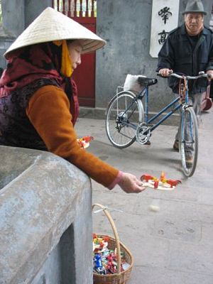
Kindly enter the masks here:
[[181, 114], [179, 148], [185, 176], [195, 173], [198, 152], [197, 117], [192, 107], [184, 107]]

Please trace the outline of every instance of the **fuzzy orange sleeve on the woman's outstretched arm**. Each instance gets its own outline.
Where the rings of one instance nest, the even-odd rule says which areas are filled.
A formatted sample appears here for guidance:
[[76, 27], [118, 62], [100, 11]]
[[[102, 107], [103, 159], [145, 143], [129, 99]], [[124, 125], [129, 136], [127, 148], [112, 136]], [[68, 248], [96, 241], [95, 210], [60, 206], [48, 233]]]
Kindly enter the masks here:
[[31, 97], [28, 119], [43, 139], [48, 151], [70, 161], [105, 187], [113, 187], [119, 170], [80, 148], [70, 114], [70, 101], [62, 89], [44, 86]]

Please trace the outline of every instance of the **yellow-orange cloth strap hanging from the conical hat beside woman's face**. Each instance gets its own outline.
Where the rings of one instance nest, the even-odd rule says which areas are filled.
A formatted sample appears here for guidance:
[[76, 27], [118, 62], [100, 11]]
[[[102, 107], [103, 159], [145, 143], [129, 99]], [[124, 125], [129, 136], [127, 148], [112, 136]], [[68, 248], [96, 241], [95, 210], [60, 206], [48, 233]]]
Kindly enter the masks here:
[[62, 45], [62, 59], [61, 59], [60, 72], [65, 77], [71, 77], [73, 69], [67, 46], [67, 40], [54, 40], [53, 43], [58, 46]]

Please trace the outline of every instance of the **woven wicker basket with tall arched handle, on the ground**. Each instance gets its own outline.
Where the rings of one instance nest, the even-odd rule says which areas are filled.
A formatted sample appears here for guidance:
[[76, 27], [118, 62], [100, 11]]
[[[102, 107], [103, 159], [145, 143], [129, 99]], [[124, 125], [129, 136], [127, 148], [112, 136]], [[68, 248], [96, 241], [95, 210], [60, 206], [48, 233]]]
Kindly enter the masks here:
[[[107, 237], [109, 239], [108, 248], [117, 249], [118, 271], [117, 273], [109, 274], [109, 275], [100, 275], [98, 273], [93, 273], [93, 283], [94, 284], [125, 284], [128, 282], [130, 274], [131, 274], [131, 270], [133, 266], [133, 256], [131, 255], [131, 252], [129, 251], [129, 249], [127, 249], [126, 246], [124, 246], [124, 244], [122, 244], [121, 241], [119, 241], [119, 235], [117, 233], [116, 226], [108, 210], [101, 204], [96, 203], [92, 206], [92, 208], [94, 208], [95, 206], [103, 209], [104, 214], [107, 216], [107, 218], [109, 219], [109, 223], [111, 224], [114, 237], [103, 235], [103, 234], [96, 234], [96, 235], [101, 238]], [[126, 262], [129, 263], [129, 267], [125, 271], [122, 271], [122, 272], [121, 272], [121, 251], [125, 255]]]

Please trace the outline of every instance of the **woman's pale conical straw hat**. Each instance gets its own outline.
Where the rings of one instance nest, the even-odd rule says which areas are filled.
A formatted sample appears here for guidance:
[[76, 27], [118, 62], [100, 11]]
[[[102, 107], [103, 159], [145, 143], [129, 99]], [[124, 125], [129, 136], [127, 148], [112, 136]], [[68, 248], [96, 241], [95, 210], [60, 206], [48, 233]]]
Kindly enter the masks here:
[[18, 36], [9, 49], [6, 50], [4, 57], [8, 59], [11, 51], [24, 46], [68, 39], [81, 40], [82, 53], [90, 53], [102, 48], [106, 43], [105, 40], [84, 28], [80, 23], [48, 7]]

